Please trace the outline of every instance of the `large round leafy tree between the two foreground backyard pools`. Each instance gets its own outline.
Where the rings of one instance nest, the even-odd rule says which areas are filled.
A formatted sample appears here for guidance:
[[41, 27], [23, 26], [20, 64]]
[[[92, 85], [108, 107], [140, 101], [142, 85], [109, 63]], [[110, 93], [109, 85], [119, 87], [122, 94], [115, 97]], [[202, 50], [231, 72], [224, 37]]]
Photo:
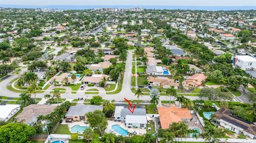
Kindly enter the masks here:
[[104, 113], [100, 110], [95, 110], [94, 112], [88, 112], [86, 116], [90, 127], [94, 130], [99, 131], [99, 133], [103, 135], [105, 130], [107, 129], [108, 124], [107, 118]]

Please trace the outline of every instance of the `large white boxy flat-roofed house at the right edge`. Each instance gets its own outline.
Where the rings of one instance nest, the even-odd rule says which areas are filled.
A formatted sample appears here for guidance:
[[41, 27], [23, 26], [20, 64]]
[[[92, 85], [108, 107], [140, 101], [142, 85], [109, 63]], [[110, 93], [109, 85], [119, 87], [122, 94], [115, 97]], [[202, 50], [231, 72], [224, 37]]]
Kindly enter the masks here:
[[236, 68], [245, 71], [256, 69], [256, 58], [249, 55], [236, 56], [233, 59], [233, 64]]

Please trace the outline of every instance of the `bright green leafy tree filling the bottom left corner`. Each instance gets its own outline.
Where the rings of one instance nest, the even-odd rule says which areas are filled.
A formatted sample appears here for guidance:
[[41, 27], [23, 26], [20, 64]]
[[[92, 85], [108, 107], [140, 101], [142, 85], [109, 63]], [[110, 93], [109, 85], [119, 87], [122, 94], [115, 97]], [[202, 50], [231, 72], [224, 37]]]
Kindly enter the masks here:
[[25, 143], [35, 133], [35, 128], [25, 123], [8, 123], [0, 127], [0, 140], [3, 143]]

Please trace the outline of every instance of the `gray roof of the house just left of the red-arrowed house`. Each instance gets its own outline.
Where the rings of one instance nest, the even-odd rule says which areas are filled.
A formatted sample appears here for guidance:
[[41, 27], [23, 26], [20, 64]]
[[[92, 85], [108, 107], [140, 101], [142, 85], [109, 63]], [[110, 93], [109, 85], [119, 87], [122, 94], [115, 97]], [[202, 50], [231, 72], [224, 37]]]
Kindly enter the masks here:
[[86, 113], [93, 112], [95, 110], [103, 110], [103, 106], [97, 106], [97, 105], [70, 106], [65, 116], [85, 115]]

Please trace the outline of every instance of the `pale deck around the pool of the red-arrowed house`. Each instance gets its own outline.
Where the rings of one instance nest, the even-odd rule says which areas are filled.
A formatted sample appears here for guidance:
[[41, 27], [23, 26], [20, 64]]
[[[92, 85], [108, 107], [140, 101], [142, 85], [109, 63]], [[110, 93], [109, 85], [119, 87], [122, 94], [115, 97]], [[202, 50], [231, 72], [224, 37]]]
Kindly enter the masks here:
[[139, 129], [139, 128], [127, 128], [125, 127], [125, 124], [122, 123], [122, 122], [115, 122], [115, 121], [108, 121], [108, 127], [106, 129], [106, 132], [110, 133], [110, 132], [113, 132], [114, 134], [116, 135], [120, 135], [119, 133], [115, 132], [111, 127], [112, 125], [115, 125], [115, 124], [119, 124], [120, 127], [122, 127], [123, 129], [133, 133], [134, 131], [137, 132], [138, 135], [143, 135], [145, 134], [147, 131], [146, 129]]

